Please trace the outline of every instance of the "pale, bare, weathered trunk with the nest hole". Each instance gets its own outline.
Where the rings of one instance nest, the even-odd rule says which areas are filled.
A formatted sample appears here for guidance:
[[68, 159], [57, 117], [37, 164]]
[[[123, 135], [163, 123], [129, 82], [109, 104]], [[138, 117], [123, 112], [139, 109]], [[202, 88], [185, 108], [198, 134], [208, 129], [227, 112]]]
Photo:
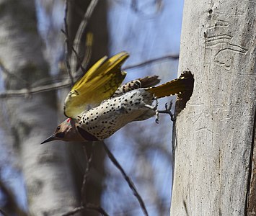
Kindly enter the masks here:
[[255, 207], [255, 17], [255, 1], [185, 1], [179, 71], [195, 86], [174, 130], [171, 215]]

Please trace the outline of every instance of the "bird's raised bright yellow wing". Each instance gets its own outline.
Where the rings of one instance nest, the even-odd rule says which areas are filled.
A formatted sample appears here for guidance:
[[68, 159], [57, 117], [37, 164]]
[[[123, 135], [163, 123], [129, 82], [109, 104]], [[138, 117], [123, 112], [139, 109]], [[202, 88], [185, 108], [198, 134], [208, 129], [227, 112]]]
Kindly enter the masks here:
[[105, 56], [98, 60], [69, 91], [64, 102], [64, 114], [76, 118], [89, 106], [94, 107], [112, 96], [126, 76], [120, 68], [128, 57], [128, 53], [121, 52], [112, 58]]

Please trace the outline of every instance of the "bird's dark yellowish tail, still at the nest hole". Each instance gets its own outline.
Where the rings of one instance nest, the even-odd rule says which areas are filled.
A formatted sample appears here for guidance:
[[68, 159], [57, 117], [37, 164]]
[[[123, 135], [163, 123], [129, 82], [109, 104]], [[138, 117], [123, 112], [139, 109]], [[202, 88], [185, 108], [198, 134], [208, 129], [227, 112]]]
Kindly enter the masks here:
[[192, 91], [193, 89], [194, 78], [190, 71], [183, 72], [179, 78], [175, 78], [172, 81], [169, 81], [165, 84], [154, 86], [147, 91], [154, 94], [157, 98], [170, 95], [180, 95], [184, 94], [185, 91]]

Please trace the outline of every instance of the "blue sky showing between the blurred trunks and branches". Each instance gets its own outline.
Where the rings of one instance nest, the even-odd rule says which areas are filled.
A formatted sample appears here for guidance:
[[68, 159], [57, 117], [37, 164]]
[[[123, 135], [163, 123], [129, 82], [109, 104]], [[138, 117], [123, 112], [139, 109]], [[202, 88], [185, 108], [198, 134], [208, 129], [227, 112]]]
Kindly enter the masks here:
[[[50, 53], [51, 57], [54, 56], [48, 60], [52, 73], [56, 74], [57, 62], [64, 48], [64, 45], [60, 43], [61, 40], [58, 39], [61, 37], [63, 27], [63, 4], [61, 1], [56, 1], [53, 17], [50, 19], [38, 4], [39, 0], [35, 2], [37, 2], [37, 18], [39, 19], [38, 29], [48, 46], [45, 55]], [[110, 0], [108, 7], [110, 55], [122, 50], [130, 53], [131, 57], [128, 58], [124, 67], [165, 55], [179, 55], [182, 5], [183, 1], [177, 0]], [[50, 29], [56, 32], [49, 33]], [[164, 60], [149, 64], [149, 66], [129, 69], [125, 81], [158, 75], [163, 83], [178, 76], [177, 64], [178, 60]], [[4, 91], [1, 81], [0, 90]], [[159, 107], [163, 109], [164, 103], [169, 100], [169, 98], [162, 100]], [[161, 116], [159, 125], [156, 125], [153, 118], [144, 122], [136, 122], [123, 127], [112, 135], [112, 138], [106, 140], [112, 153], [136, 184], [149, 215], [158, 215], [161, 211], [169, 212], [172, 181], [171, 131], [172, 122], [169, 116]], [[5, 157], [4, 153], [6, 150], [0, 145], [0, 158]], [[131, 190], [108, 159], [106, 168], [107, 179], [102, 196], [102, 207], [110, 215], [122, 215], [122, 210], [129, 210], [128, 215], [143, 215]], [[21, 174], [9, 166], [1, 166], [1, 176], [4, 180], [8, 179], [12, 182], [10, 186], [14, 189], [19, 203], [25, 208], [25, 189], [22, 190], [20, 186]], [[152, 185], [154, 188], [151, 187]], [[4, 202], [4, 197], [0, 194], [0, 206], [1, 202]]]

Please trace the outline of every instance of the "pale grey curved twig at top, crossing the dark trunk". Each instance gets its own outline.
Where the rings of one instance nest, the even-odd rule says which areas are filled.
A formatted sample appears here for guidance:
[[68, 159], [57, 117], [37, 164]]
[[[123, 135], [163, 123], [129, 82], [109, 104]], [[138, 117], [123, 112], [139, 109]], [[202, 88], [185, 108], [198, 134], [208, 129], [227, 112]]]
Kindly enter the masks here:
[[[83, 32], [85, 28], [87, 27], [89, 19], [92, 17], [92, 12], [94, 11], [95, 7], [97, 6], [99, 0], [92, 0], [87, 8], [87, 12], [84, 14], [84, 18], [81, 21], [81, 24], [79, 25], [79, 29], [77, 30], [76, 37], [74, 39], [74, 50], [76, 50], [76, 53], [78, 55], [80, 54], [80, 43], [81, 43], [81, 37], [83, 35]], [[75, 55], [71, 54], [71, 70], [76, 71], [76, 58]]]

